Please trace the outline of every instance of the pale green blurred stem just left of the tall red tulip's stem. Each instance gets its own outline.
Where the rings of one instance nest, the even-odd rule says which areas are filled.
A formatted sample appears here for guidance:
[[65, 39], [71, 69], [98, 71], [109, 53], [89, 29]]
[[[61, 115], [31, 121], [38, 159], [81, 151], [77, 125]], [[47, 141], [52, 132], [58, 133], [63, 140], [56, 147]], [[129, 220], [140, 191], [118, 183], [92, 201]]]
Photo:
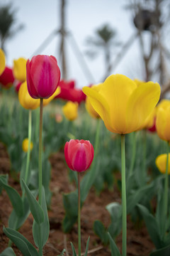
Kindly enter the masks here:
[[[28, 151], [27, 151], [27, 160], [26, 160], [26, 172], [24, 176], [24, 181], [26, 184], [28, 183], [28, 172], [29, 172], [29, 165], [30, 165], [30, 142], [31, 142], [31, 122], [32, 122], [32, 110], [29, 110], [28, 115]], [[25, 190], [23, 188], [23, 195], [22, 198], [25, 196]]]

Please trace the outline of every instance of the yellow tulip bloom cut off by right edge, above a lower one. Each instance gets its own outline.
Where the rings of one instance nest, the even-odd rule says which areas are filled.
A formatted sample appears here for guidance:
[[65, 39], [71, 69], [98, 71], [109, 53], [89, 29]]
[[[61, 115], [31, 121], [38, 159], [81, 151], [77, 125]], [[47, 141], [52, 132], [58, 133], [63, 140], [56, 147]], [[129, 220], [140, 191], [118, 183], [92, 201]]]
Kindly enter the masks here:
[[157, 106], [156, 127], [159, 138], [170, 142], [170, 100], [162, 100]]

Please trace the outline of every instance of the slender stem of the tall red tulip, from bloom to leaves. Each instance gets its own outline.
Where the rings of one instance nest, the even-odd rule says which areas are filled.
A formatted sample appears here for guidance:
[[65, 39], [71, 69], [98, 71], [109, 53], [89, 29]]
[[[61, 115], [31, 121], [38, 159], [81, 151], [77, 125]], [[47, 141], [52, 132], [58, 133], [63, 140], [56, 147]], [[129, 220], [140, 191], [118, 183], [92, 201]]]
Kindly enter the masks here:
[[42, 205], [42, 110], [43, 99], [40, 99], [40, 133], [39, 133], [39, 203]]

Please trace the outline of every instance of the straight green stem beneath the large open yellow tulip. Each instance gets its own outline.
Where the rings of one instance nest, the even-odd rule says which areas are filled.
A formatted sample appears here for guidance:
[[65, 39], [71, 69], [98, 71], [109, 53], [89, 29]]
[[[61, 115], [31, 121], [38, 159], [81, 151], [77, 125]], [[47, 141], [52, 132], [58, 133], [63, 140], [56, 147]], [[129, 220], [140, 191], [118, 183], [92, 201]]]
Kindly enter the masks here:
[[127, 213], [126, 213], [126, 181], [125, 181], [125, 135], [121, 135], [121, 164], [122, 164], [122, 207], [123, 207], [123, 244], [122, 256], [126, 256]]

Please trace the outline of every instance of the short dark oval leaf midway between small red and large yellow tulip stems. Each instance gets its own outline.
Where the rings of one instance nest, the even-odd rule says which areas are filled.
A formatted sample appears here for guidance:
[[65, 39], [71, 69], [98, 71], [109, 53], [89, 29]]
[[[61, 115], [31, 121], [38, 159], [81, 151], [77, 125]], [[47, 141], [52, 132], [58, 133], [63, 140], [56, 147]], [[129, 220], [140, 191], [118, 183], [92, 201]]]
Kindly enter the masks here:
[[101, 241], [104, 245], [108, 244], [108, 232], [103, 223], [101, 223], [99, 220], [95, 220], [94, 222], [94, 233], [96, 233], [96, 235], [101, 238]]

